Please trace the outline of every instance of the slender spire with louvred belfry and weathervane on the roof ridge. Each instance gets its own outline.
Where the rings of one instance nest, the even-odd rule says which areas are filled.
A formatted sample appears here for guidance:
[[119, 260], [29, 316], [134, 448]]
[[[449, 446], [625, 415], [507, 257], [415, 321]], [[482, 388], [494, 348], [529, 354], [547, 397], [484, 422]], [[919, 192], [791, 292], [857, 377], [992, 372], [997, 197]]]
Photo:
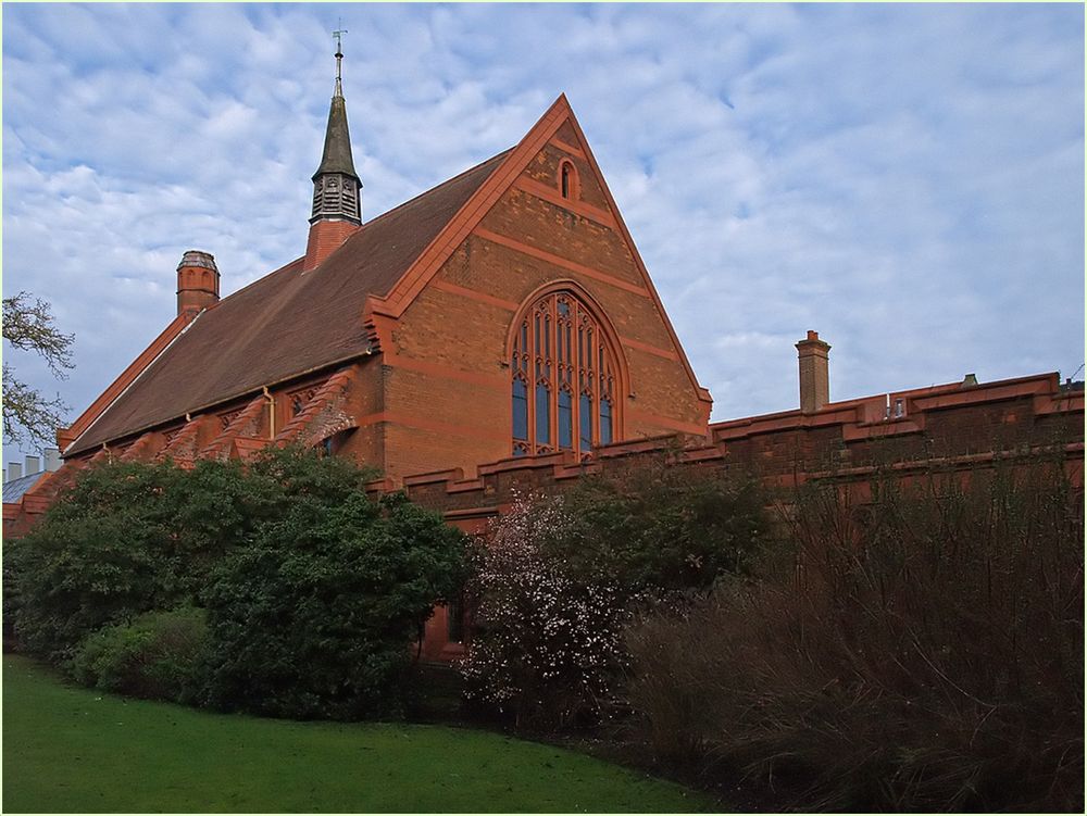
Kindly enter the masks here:
[[336, 86], [328, 109], [321, 165], [313, 174], [313, 212], [304, 272], [318, 266], [362, 224], [362, 180], [354, 172], [343, 101], [343, 50], [340, 45], [343, 34], [347, 34], [343, 29], [333, 32], [336, 37]]

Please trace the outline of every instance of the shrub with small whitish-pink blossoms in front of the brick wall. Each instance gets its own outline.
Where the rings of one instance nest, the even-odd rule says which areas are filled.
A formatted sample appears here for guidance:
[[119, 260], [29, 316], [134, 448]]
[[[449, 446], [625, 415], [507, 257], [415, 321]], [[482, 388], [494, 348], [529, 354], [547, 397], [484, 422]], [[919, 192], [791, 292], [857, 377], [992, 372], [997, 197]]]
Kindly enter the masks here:
[[522, 727], [595, 719], [625, 663], [627, 599], [547, 552], [566, 524], [561, 498], [516, 495], [477, 556], [475, 636], [461, 670], [470, 699]]

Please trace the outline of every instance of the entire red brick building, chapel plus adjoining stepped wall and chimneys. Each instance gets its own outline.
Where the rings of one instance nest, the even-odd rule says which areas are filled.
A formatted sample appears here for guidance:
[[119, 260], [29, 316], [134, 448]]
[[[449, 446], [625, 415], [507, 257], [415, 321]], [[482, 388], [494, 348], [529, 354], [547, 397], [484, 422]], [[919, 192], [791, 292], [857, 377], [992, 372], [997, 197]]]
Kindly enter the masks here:
[[[90, 462], [190, 466], [288, 443], [374, 465], [377, 489], [405, 488], [468, 530], [518, 479], [549, 489], [677, 435], [688, 461], [796, 480], [827, 451], [860, 474], [878, 439], [946, 436], [975, 455], [992, 429], [1067, 419], [1082, 469], [1082, 386], [971, 376], [832, 403], [815, 332], [797, 344], [799, 410], [710, 425], [710, 394], [564, 96], [509, 150], [364, 221], [336, 57], [304, 254], [220, 298], [214, 258], [186, 252], [176, 318], [58, 430], [64, 465], [4, 504], [7, 530]], [[428, 656], [457, 651], [445, 629], [439, 610]]]

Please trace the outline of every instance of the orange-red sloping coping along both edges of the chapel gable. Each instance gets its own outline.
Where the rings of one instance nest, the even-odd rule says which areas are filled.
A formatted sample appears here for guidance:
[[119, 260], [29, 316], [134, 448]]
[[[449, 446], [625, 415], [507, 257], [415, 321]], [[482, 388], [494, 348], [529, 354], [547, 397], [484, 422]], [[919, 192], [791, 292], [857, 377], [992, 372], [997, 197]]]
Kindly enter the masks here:
[[[660, 294], [653, 286], [649, 276], [649, 271], [638, 252], [630, 231], [623, 221], [623, 216], [615, 204], [615, 199], [604, 180], [600, 165], [597, 163], [592, 150], [589, 148], [585, 133], [577, 123], [573, 109], [566, 99], [565, 93], [559, 98], [540, 116], [539, 121], [525, 134], [517, 145], [512, 148], [497, 168], [488, 176], [487, 180], [468, 198], [461, 206], [460, 211], [449, 221], [441, 231], [435, 236], [434, 240], [420, 253], [415, 262], [404, 272], [400, 279], [391, 287], [389, 292], [382, 296], [371, 296], [366, 299], [365, 319], [370, 323], [380, 323], [382, 318], [399, 319], [408, 307], [414, 302], [420, 293], [430, 284], [442, 265], [457, 251], [458, 247], [476, 229], [496, 202], [513, 186], [518, 184], [525, 170], [536, 155], [549, 143], [552, 143], [567, 152], [572, 152], [579, 158], [584, 158], [592, 176], [591, 183], [599, 188], [603, 196], [603, 206], [583, 208], [595, 210], [599, 216], [613, 221], [620, 236], [630, 252], [634, 263], [641, 278], [641, 284], [649, 293], [650, 299], [660, 314], [661, 321], [669, 334], [669, 337], [676, 349], [679, 363], [683, 366], [691, 388], [699, 402], [703, 405], [705, 422], [709, 422], [712, 398], [709, 390], [698, 384], [695, 371], [687, 359], [675, 328], [669, 319], [664, 304]], [[576, 206], [576, 205], [575, 205]], [[592, 217], [590, 215], [590, 217]], [[375, 319], [375, 316], [376, 319]]]

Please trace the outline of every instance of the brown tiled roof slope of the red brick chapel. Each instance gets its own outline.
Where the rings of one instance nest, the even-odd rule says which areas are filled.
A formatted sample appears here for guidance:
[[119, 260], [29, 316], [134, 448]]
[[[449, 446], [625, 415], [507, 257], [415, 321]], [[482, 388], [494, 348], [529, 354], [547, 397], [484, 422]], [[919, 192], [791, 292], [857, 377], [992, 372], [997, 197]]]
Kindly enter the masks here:
[[316, 269], [299, 259], [201, 313], [65, 455], [365, 353], [366, 296], [392, 288], [508, 152], [363, 224]]

